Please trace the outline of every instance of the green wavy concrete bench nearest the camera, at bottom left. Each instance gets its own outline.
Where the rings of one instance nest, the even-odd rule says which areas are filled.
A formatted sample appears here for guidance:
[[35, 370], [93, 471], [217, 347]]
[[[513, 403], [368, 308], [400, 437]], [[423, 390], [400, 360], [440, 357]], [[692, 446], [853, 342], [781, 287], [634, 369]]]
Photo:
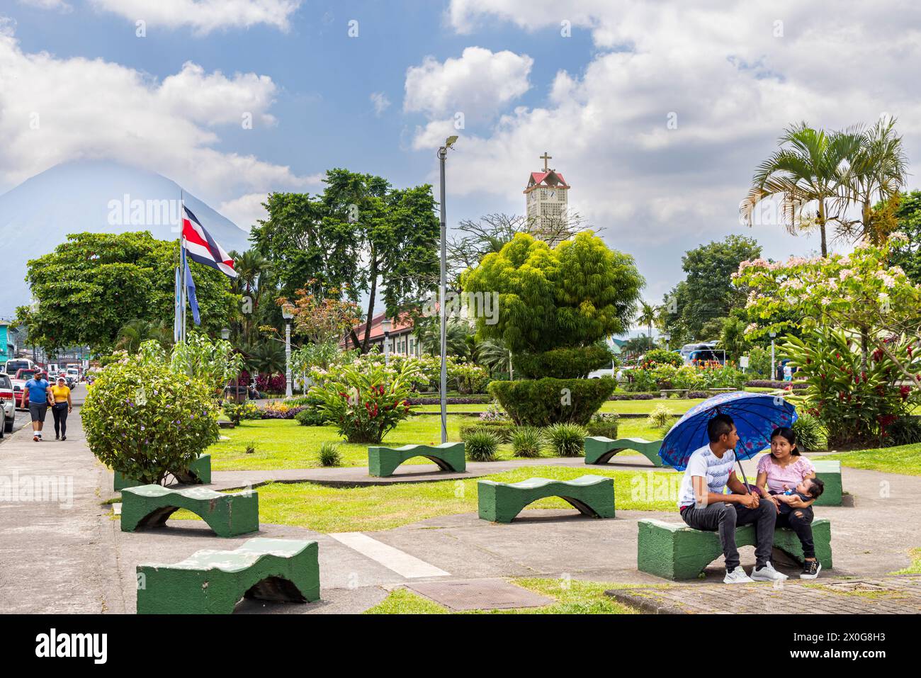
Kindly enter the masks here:
[[320, 600], [317, 543], [259, 537], [233, 551], [137, 566], [138, 614], [230, 614], [241, 598]]

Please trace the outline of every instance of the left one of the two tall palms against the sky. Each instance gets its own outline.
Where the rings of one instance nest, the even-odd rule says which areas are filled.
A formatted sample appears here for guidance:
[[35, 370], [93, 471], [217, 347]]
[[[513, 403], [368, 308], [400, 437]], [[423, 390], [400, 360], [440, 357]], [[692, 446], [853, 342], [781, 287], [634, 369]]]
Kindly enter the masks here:
[[[860, 147], [860, 134], [854, 129], [829, 134], [799, 123], [789, 127], [779, 143], [782, 147], [755, 171], [740, 212], [751, 226], [755, 205], [765, 198], [780, 197], [787, 231], [795, 234], [814, 222], [822, 236], [822, 256], [828, 256], [827, 226], [840, 223], [845, 173], [848, 160]], [[803, 219], [803, 208], [813, 203], [817, 205], [814, 219]]]

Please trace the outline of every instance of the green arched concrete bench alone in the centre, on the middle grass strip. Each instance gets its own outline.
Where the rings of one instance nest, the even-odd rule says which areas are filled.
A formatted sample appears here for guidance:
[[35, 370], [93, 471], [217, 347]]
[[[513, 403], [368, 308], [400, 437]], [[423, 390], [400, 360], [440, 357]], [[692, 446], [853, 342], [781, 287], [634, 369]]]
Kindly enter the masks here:
[[543, 497], [562, 497], [581, 513], [594, 518], [614, 517], [614, 480], [583, 475], [575, 480], [529, 478], [520, 483], [477, 482], [480, 518], [511, 522], [530, 503]]

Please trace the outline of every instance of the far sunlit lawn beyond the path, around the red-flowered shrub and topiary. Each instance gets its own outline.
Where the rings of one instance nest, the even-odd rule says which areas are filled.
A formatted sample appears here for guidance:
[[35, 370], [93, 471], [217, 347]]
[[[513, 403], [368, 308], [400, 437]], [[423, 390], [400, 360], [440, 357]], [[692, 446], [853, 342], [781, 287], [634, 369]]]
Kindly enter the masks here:
[[[449, 415], [448, 439], [461, 439], [461, 425], [473, 424], [475, 419], [462, 415]], [[414, 443], [435, 445], [441, 441], [441, 422], [436, 415], [412, 416], [403, 420], [386, 438], [384, 445], [399, 447]], [[293, 419], [262, 419], [242, 421], [235, 428], [222, 428], [218, 440], [206, 450], [211, 454], [215, 471], [242, 471], [265, 469], [304, 469], [320, 466], [318, 452], [326, 440], [339, 442], [344, 466], [367, 466], [367, 445], [344, 442], [336, 427], [302, 427]], [[662, 438], [662, 434], [647, 427], [646, 419], [623, 419], [618, 435], [624, 438]], [[247, 447], [255, 451], [246, 452]], [[549, 452], [545, 452], [550, 456]], [[638, 454], [632, 450], [621, 454]], [[501, 445], [497, 458], [514, 459], [510, 445]], [[409, 460], [410, 464], [432, 464], [422, 457]], [[434, 466], [434, 464], [432, 464]]]

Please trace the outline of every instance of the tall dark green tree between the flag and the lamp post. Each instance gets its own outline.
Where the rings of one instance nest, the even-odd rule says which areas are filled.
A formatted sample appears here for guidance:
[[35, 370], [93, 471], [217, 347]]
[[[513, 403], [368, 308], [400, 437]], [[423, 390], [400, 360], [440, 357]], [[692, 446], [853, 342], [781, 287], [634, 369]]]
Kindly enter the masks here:
[[[292, 298], [305, 289], [351, 301], [367, 294], [366, 318], [379, 300], [389, 316], [418, 301], [438, 270], [432, 187], [394, 189], [381, 177], [347, 169], [330, 169], [323, 181], [314, 198], [269, 195], [269, 218], [253, 228], [251, 240], [273, 263], [280, 293]], [[367, 351], [370, 326], [350, 337]]]

